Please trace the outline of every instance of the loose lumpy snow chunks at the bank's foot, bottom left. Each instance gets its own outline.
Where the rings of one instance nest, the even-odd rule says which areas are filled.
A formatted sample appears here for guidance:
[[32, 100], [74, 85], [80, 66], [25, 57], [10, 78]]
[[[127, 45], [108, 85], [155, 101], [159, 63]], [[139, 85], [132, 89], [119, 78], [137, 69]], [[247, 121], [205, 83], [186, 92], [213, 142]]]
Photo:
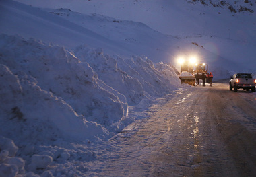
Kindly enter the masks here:
[[0, 136], [0, 176], [83, 176], [88, 170], [86, 162], [95, 159], [95, 153], [86, 149], [83, 142], [70, 145], [59, 139], [35, 144], [29, 140], [18, 143], [19, 148], [11, 139]]

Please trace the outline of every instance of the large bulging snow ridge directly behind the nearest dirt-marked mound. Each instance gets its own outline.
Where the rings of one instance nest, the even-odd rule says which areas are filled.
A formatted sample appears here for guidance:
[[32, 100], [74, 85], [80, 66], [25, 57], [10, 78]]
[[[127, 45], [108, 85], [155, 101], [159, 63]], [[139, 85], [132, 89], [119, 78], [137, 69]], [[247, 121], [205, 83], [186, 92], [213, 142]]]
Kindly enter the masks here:
[[[88, 65], [60, 46], [47, 46], [34, 39], [5, 37], [1, 62], [15, 74], [23, 72], [34, 79], [37, 85], [65, 100], [75, 112], [88, 120], [97, 119], [102, 125], [112, 125], [125, 114], [117, 96], [99, 86], [100, 82]], [[13, 52], [15, 51], [15, 52]], [[5, 57], [6, 56], [6, 57]], [[127, 107], [127, 106], [126, 106]]]

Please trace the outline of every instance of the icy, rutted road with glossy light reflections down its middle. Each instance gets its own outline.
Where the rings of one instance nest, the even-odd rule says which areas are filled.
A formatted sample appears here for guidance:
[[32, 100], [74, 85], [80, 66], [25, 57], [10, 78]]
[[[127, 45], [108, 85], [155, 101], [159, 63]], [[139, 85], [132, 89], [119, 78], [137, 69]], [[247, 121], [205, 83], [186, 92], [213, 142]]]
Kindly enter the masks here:
[[90, 176], [256, 176], [255, 93], [215, 83], [161, 102], [108, 141]]

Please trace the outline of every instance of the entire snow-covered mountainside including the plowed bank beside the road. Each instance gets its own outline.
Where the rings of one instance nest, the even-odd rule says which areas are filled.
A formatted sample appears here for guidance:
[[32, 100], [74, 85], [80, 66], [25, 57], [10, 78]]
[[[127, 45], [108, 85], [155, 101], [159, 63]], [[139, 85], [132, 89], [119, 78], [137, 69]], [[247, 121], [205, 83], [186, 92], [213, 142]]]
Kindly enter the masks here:
[[253, 1], [19, 2], [0, 3], [0, 176], [83, 176], [91, 143], [181, 87], [180, 55], [255, 71]]

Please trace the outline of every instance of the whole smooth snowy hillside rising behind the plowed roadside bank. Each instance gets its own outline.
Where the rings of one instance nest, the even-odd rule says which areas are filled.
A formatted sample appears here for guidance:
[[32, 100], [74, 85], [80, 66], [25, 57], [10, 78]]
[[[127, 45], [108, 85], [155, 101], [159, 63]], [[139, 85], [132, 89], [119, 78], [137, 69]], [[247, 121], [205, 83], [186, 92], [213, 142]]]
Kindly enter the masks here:
[[[33, 26], [30, 33], [30, 36], [40, 38], [44, 42], [55, 42], [65, 45], [66, 48], [87, 44], [93, 48], [104, 48], [105, 52], [122, 55], [122, 57], [144, 55], [156, 63], [164, 61], [164, 63], [172, 63], [172, 65], [177, 64], [179, 55], [189, 56], [191, 53], [196, 53], [201, 59], [200, 62], [211, 63], [216, 58], [221, 61], [226, 60], [224, 63], [211, 63], [210, 69], [221, 66], [228, 71], [237, 69], [245, 71], [256, 67], [253, 62], [256, 46], [256, 13], [239, 12], [239, 10], [234, 13], [228, 9], [232, 5], [236, 9], [241, 6], [243, 9], [246, 7], [255, 11], [253, 1], [249, 1], [249, 3], [244, 1], [223, 1], [223, 3], [205, 1], [205, 4], [201, 1], [160, 2], [154, 0], [49, 0], [44, 3], [42, 1], [19, 1], [37, 7], [51, 8], [46, 9], [51, 13], [47, 19], [44, 19], [46, 26], [37, 24]], [[26, 9], [26, 11], [32, 11], [32, 9]], [[3, 13], [6, 14], [8, 11]], [[73, 24], [67, 23], [67, 21], [64, 23], [58, 17], [63, 17]], [[26, 21], [30, 22], [30, 20], [31, 16]], [[61, 28], [51, 27], [48, 21], [51, 24], [57, 23]], [[11, 24], [9, 21], [10, 25], [6, 27], [7, 30], [3, 29], [3, 26], [2, 30], [7, 34], [17, 34], [18, 32], [11, 31], [9, 28], [22, 23], [14, 21]], [[63, 26], [63, 24], [67, 25]], [[47, 28], [45, 29], [45, 27]], [[46, 36], [40, 32], [40, 29], [52, 35]], [[51, 32], [49, 29], [52, 29]], [[61, 33], [59, 33], [60, 30]], [[19, 31], [24, 33], [22, 36], [28, 37], [26, 30], [22, 32], [23, 30], [20, 28]], [[95, 32], [95, 34], [91, 32]], [[64, 40], [63, 36], [69, 36], [69, 40]], [[203, 46], [203, 49], [195, 48], [192, 42]], [[202, 52], [207, 54], [201, 55]], [[209, 55], [216, 56], [209, 57]]]

